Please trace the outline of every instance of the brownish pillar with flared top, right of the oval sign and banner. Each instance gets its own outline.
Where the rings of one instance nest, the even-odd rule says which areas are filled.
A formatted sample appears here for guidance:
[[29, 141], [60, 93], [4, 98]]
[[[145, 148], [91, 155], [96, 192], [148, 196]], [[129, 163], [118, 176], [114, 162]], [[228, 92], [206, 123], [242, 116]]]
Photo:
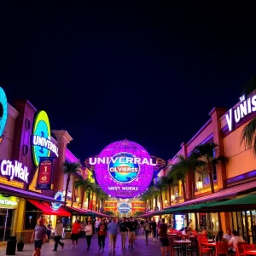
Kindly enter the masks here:
[[70, 143], [73, 138], [68, 134], [67, 131], [52, 131], [57, 139], [59, 157], [55, 159], [55, 170], [54, 170], [54, 190], [55, 193], [59, 190], [63, 191], [64, 188], [64, 174], [63, 174], [63, 163], [66, 160], [67, 144]]

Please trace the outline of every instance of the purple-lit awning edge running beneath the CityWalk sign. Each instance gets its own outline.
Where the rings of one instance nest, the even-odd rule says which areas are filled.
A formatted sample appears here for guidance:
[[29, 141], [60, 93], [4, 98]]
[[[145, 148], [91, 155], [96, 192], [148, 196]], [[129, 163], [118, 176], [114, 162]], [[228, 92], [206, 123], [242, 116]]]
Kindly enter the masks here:
[[0, 185], [0, 192], [1, 194], [7, 194], [7, 195], [14, 195], [18, 197], [24, 197], [25, 199], [36, 199], [36, 200], [43, 200], [43, 201], [49, 201], [49, 202], [60, 202], [59, 200], [55, 200], [52, 197], [40, 195], [31, 191], [22, 190], [22, 189], [16, 189], [14, 187], [9, 187], [5, 185]]

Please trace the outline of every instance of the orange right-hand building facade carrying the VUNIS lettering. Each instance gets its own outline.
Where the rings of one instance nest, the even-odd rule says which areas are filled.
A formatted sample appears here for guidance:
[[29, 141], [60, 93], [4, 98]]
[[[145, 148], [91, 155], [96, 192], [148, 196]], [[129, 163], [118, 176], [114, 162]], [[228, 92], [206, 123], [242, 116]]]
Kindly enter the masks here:
[[[183, 193], [180, 185], [172, 191], [172, 201], [168, 195], [164, 195], [165, 207], [188, 203], [198, 204], [206, 201], [214, 201], [222, 198], [228, 198], [246, 195], [256, 190], [256, 158], [253, 156], [252, 148], [246, 148], [241, 143], [241, 131], [247, 123], [256, 116], [256, 96], [245, 99], [243, 96], [233, 108], [227, 111], [224, 108], [213, 108], [209, 113], [210, 119], [201, 127], [194, 137], [188, 143], [182, 143], [181, 149], [171, 160], [165, 170], [160, 172], [160, 176], [170, 172], [171, 165], [177, 162], [177, 155], [183, 154], [189, 156], [195, 146], [214, 142], [218, 148], [214, 152], [215, 156], [224, 155], [228, 158], [225, 164], [218, 164], [213, 172], [214, 191], [211, 193], [209, 177], [207, 172], [195, 173], [195, 183], [201, 178], [203, 187], [195, 189], [195, 199], [189, 186], [189, 177], [186, 180], [186, 196], [189, 201], [183, 202]], [[239, 230], [240, 234], [247, 241], [254, 241], [252, 235], [253, 223], [256, 223], [256, 212], [221, 212], [207, 213], [207, 230], [217, 232], [218, 230]], [[197, 227], [200, 227], [200, 214], [189, 214], [187, 220], [192, 218]], [[186, 221], [184, 225], [186, 226]]]

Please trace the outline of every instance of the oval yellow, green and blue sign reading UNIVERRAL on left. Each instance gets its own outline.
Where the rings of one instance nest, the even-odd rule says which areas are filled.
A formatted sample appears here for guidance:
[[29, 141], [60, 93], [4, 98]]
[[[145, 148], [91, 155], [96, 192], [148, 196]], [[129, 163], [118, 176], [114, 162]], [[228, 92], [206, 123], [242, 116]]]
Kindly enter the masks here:
[[39, 165], [40, 157], [49, 157], [53, 152], [59, 156], [58, 148], [50, 141], [49, 118], [45, 111], [39, 111], [35, 117], [32, 131], [32, 155], [35, 166]]

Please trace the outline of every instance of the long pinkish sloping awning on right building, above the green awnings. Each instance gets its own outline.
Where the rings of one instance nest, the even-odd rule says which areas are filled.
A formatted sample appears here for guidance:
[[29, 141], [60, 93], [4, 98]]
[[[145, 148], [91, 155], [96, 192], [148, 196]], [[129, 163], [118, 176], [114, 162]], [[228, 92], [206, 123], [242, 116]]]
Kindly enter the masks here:
[[242, 194], [248, 193], [249, 191], [250, 192], [255, 191], [255, 188], [256, 188], [256, 181], [252, 181], [249, 183], [243, 183], [243, 184], [239, 184], [239, 185], [227, 188], [227, 189], [219, 190], [213, 194], [205, 195], [200, 198], [196, 198], [194, 200], [185, 201], [185, 202], [175, 205], [175, 206], [166, 207], [166, 209], [172, 209], [174, 207], [184, 207], [184, 206], [188, 206], [191, 204], [200, 204], [200, 203], [203, 203], [206, 201], [221, 200], [221, 199], [228, 198], [230, 196], [242, 195]]

